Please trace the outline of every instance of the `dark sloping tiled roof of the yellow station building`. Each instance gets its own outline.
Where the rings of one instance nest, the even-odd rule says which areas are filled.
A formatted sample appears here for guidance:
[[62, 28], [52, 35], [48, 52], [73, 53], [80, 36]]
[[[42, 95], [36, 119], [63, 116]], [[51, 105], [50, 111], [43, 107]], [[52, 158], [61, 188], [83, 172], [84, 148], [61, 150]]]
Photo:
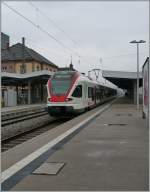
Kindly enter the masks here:
[[46, 63], [52, 67], [58, 68], [58, 66], [56, 66], [53, 62], [49, 61], [33, 49], [30, 49], [27, 46], [24, 46], [23, 48], [23, 44], [21, 43], [17, 43], [8, 49], [2, 50], [1, 59], [2, 61], [22, 61], [23, 59], [25, 61], [35, 60], [40, 63]]

